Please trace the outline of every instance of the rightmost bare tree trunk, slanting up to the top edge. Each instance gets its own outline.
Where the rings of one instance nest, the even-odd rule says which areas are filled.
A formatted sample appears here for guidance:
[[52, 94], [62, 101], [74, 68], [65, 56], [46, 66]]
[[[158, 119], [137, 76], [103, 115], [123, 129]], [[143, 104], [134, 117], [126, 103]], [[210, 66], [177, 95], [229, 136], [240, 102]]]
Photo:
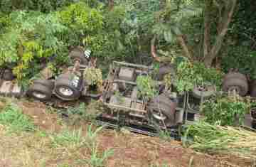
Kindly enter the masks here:
[[218, 36], [213, 45], [213, 48], [211, 48], [210, 53], [204, 60], [204, 63], [206, 65], [206, 67], [208, 67], [208, 68], [210, 68], [210, 66], [213, 63], [213, 59], [216, 58], [216, 56], [220, 52], [220, 48], [223, 44], [224, 37], [225, 37], [226, 33], [228, 32], [228, 26], [231, 22], [231, 19], [232, 19], [234, 10], [235, 10], [235, 6], [237, 4], [237, 0], [230, 0], [230, 1], [232, 1], [232, 6], [231, 6], [230, 10], [228, 10], [228, 12], [225, 12], [225, 16], [223, 16], [224, 19], [221, 23], [222, 25], [218, 26], [218, 27], [221, 27], [221, 30], [218, 33]]

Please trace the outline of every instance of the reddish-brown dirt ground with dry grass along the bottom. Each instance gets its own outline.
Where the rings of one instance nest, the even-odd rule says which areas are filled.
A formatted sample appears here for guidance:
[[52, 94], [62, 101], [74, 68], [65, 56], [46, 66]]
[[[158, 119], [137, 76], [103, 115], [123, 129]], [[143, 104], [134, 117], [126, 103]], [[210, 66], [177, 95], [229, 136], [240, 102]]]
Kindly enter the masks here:
[[[77, 126], [65, 124], [60, 115], [49, 112], [40, 102], [18, 102], [23, 113], [33, 119], [40, 131], [9, 134], [6, 126], [0, 124], [0, 167], [39, 167], [39, 166], [88, 166], [78, 163], [80, 159], [90, 157], [84, 148], [54, 148], [50, 144], [50, 135], [65, 128], [82, 127], [87, 123], [78, 122]], [[235, 156], [210, 156], [183, 148], [178, 141], [164, 141], [158, 137], [144, 136], [129, 131], [117, 132], [104, 129], [97, 136], [99, 150], [113, 149], [114, 155], [107, 158], [105, 166], [120, 167], [210, 167], [210, 166], [253, 166]]]

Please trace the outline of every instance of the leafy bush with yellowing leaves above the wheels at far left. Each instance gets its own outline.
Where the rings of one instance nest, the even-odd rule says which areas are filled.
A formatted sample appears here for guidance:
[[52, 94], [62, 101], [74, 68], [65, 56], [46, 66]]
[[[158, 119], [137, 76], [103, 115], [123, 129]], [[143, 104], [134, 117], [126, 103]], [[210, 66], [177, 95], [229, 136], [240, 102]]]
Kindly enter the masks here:
[[0, 65], [15, 63], [14, 74], [21, 81], [31, 75], [29, 69], [38, 59], [61, 53], [58, 34], [66, 28], [55, 14], [16, 11], [10, 17], [9, 31], [0, 37]]

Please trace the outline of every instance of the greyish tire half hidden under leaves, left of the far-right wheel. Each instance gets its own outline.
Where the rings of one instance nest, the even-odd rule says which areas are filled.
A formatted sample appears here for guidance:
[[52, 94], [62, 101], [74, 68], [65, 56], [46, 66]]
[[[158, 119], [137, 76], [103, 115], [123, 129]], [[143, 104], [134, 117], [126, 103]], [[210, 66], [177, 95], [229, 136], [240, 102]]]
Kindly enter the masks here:
[[214, 95], [215, 92], [216, 92], [216, 87], [213, 85], [210, 85], [208, 87], [208, 90], [206, 90], [206, 91], [202, 91], [198, 87], [194, 87], [192, 90], [192, 96], [196, 97], [198, 99], [201, 99], [202, 97], [208, 98], [208, 97], [211, 97], [212, 95]]

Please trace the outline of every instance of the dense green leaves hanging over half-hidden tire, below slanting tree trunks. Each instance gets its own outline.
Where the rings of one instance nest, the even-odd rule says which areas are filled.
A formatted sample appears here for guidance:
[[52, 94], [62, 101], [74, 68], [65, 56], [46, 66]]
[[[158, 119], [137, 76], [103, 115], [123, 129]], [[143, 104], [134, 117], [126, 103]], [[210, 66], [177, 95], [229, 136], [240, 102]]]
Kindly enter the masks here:
[[193, 90], [196, 85], [203, 86], [209, 82], [220, 89], [223, 74], [214, 68], [206, 68], [202, 63], [191, 63], [183, 60], [177, 65], [177, 74], [174, 85], [178, 92]]

